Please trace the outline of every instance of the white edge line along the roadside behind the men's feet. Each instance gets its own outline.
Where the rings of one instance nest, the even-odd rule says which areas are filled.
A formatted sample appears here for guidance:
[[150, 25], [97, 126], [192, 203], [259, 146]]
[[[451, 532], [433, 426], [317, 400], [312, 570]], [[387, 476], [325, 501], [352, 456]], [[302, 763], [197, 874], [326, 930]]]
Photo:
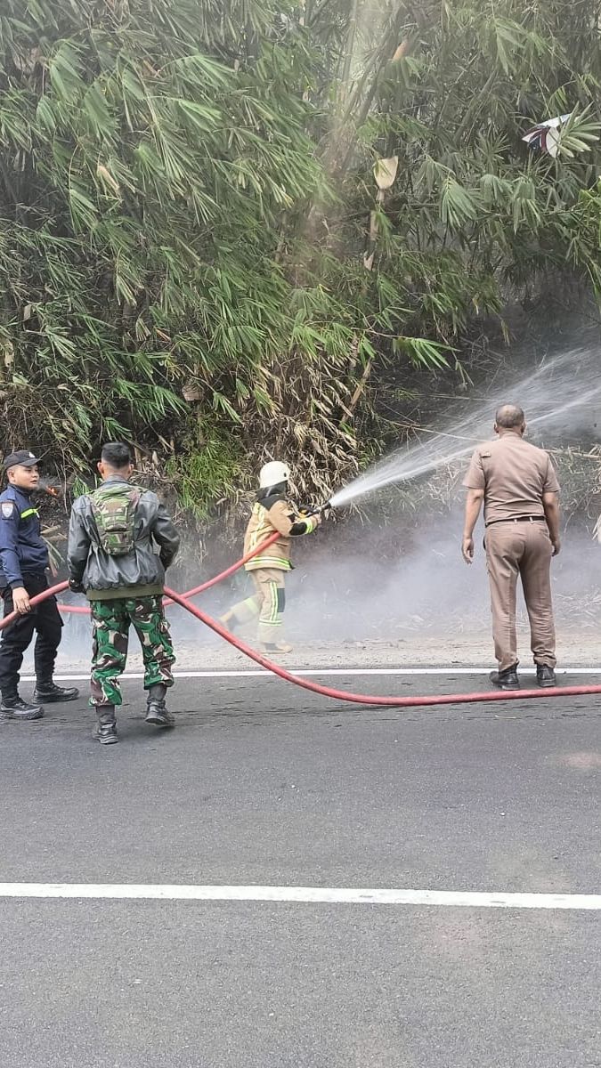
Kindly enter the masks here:
[[[289, 668], [286, 664], [287, 671], [292, 672], [295, 675], [302, 676], [312, 676], [321, 675], [322, 677], [332, 677], [335, 675], [434, 675], [438, 678], [448, 678], [449, 675], [489, 675], [490, 668]], [[521, 671], [520, 675], [533, 675], [535, 672], [533, 669], [527, 669], [526, 671]], [[601, 675], [601, 668], [561, 668], [556, 669], [557, 675]], [[266, 678], [275, 678], [271, 672], [263, 668], [256, 669], [255, 671], [180, 671], [174, 673], [175, 678], [257, 678], [259, 676], [264, 676]], [[121, 676], [122, 678], [143, 678], [142, 672], [126, 672]], [[35, 681], [34, 675], [21, 675], [24, 682]], [[90, 678], [89, 674], [86, 675], [55, 675], [55, 680], [58, 682], [84, 682]]]

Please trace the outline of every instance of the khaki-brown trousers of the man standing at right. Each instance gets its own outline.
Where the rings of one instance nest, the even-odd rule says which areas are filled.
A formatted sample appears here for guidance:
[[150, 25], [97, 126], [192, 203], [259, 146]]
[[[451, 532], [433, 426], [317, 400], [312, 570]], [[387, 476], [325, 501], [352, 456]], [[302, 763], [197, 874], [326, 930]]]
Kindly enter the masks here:
[[492, 523], [484, 536], [487, 570], [491, 587], [494, 651], [499, 671], [518, 661], [515, 635], [515, 587], [522, 580], [530, 622], [530, 648], [536, 664], [554, 668], [555, 625], [551, 599], [553, 546], [546, 523]]

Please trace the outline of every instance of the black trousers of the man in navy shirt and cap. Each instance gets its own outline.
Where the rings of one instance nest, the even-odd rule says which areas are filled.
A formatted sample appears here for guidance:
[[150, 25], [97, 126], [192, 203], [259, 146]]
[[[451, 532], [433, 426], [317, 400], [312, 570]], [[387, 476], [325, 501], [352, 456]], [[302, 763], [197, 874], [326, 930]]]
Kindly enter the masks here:
[[[35, 597], [48, 588], [48, 580], [44, 571], [26, 574], [22, 577], [24, 586], [30, 597]], [[13, 591], [4, 586], [4, 615], [14, 610]], [[33, 662], [37, 685], [50, 682], [55, 671], [57, 650], [61, 643], [63, 621], [59, 612], [56, 597], [48, 597], [34, 604], [26, 615], [19, 615], [14, 623], [1, 632], [0, 641], [0, 692], [3, 697], [15, 696], [18, 692], [19, 671], [24, 653], [30, 645], [34, 632], [37, 632]]]

